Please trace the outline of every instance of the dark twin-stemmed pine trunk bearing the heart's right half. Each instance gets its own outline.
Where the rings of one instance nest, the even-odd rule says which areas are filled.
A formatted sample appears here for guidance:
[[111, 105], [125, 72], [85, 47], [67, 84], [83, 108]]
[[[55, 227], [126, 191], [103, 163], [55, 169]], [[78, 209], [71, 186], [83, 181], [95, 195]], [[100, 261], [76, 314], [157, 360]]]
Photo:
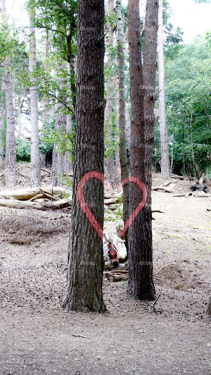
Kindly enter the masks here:
[[[157, 53], [158, 1], [147, 0], [145, 18], [144, 68], [142, 74], [142, 49], [140, 41], [139, 0], [128, 1], [128, 40], [131, 95], [130, 144], [130, 211], [146, 204], [129, 227], [128, 243], [128, 295], [140, 300], [154, 300], [152, 281], [152, 147], [155, 103], [155, 73]], [[146, 190], [145, 190], [146, 189]], [[147, 197], [146, 197], [147, 195]]]

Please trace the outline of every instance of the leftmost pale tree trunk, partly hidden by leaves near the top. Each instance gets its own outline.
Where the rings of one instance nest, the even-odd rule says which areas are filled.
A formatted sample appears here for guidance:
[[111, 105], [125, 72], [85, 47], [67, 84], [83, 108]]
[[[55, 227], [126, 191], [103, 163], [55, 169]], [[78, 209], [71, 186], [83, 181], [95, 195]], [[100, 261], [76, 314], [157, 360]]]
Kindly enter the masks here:
[[[5, 15], [7, 22], [5, 0], [2, 0], [2, 13]], [[16, 185], [16, 139], [15, 139], [15, 115], [12, 92], [12, 79], [10, 72], [10, 60], [5, 58], [5, 96], [6, 96], [6, 120], [7, 120], [7, 136], [6, 136], [6, 171], [5, 183], [6, 187]]]

